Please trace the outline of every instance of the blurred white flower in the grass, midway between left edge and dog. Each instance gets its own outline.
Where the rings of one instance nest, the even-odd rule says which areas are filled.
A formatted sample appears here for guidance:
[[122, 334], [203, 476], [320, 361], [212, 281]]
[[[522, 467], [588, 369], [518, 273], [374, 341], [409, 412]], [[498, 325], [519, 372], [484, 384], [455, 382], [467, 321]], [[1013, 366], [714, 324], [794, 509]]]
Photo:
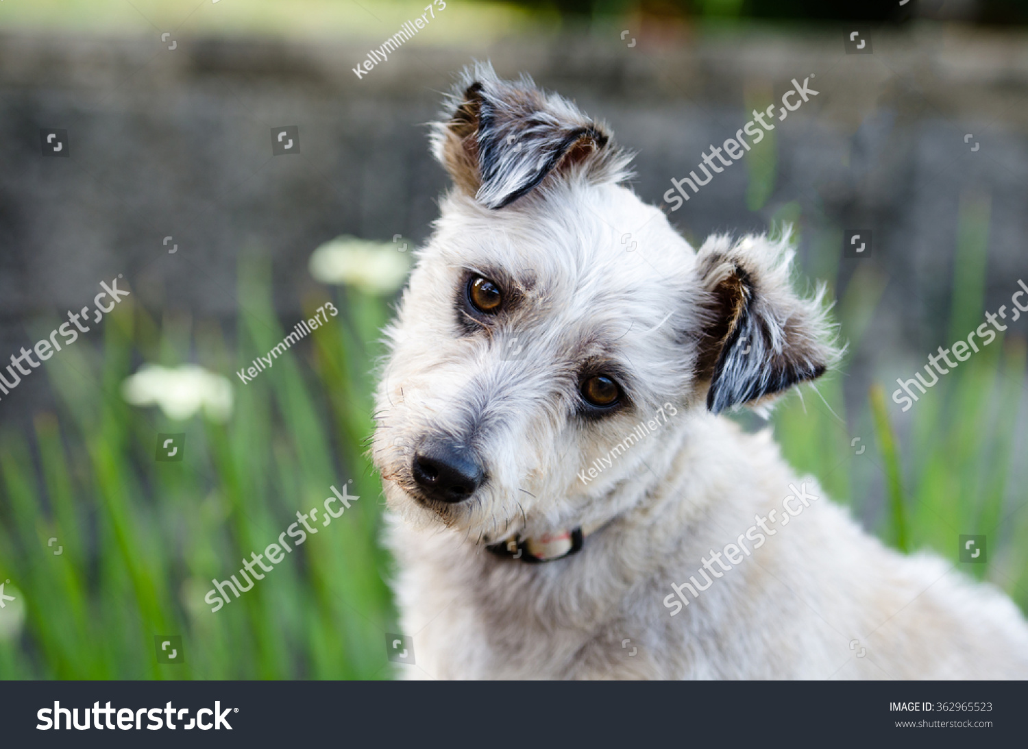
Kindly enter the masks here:
[[232, 414], [232, 385], [227, 378], [194, 364], [176, 369], [145, 364], [121, 383], [133, 406], [160, 406], [171, 419], [185, 421], [200, 408], [215, 421]]

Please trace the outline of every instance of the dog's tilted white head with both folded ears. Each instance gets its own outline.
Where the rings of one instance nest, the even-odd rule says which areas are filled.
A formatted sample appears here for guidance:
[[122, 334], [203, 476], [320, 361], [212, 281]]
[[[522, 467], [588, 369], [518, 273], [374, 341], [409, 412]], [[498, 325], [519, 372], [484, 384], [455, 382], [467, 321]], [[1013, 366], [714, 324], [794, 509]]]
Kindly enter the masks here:
[[[831, 363], [786, 240], [695, 251], [566, 100], [477, 66], [433, 146], [453, 189], [387, 331], [372, 447], [408, 519], [488, 542], [574, 527], [678, 425]], [[639, 438], [655, 418], [667, 439]]]

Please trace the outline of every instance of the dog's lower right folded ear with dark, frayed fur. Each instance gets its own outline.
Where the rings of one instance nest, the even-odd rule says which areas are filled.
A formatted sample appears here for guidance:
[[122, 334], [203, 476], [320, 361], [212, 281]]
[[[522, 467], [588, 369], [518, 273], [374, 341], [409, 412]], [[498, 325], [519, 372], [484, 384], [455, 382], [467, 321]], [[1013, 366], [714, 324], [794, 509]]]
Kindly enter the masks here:
[[700, 248], [704, 327], [697, 381], [707, 385], [707, 408], [720, 413], [757, 404], [812, 380], [835, 364], [823, 287], [810, 299], [791, 286], [787, 239], [747, 236], [736, 244], [714, 236]]

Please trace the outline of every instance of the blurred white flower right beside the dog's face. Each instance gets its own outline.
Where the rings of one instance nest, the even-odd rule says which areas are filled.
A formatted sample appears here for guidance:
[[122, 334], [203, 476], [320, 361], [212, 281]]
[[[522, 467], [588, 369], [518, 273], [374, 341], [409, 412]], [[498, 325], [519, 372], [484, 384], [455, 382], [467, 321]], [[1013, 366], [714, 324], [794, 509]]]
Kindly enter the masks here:
[[406, 240], [390, 245], [339, 236], [310, 255], [310, 275], [322, 284], [345, 284], [379, 296], [392, 294], [403, 286], [410, 269], [407, 245]]

